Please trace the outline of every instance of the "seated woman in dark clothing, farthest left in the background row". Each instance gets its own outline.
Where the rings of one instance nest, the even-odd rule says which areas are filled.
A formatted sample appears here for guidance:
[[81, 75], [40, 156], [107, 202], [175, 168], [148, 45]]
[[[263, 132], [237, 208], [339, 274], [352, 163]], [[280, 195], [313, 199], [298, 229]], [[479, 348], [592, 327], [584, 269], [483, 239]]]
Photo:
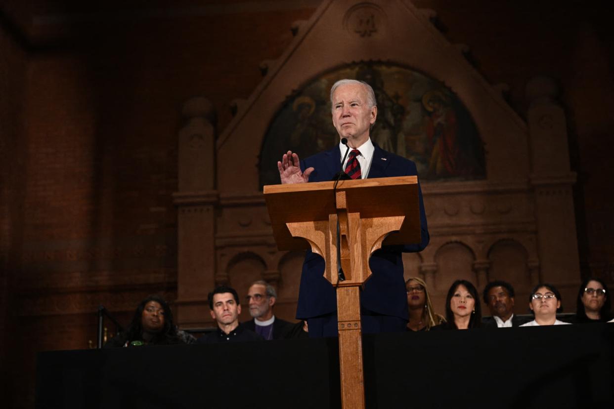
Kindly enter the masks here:
[[152, 295], [142, 300], [128, 328], [111, 338], [104, 348], [182, 343], [173, 323], [173, 313], [162, 297]]

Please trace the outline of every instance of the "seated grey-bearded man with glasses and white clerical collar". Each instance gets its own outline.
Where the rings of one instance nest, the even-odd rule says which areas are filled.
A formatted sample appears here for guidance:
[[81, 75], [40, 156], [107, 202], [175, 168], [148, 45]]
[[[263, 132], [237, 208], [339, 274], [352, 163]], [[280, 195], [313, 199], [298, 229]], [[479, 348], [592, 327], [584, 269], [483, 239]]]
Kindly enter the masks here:
[[273, 314], [273, 306], [277, 300], [275, 288], [266, 281], [255, 281], [247, 291], [247, 304], [249, 304], [249, 315], [251, 321], [243, 325], [262, 335], [265, 340], [278, 340], [290, 338], [295, 324], [277, 318]]

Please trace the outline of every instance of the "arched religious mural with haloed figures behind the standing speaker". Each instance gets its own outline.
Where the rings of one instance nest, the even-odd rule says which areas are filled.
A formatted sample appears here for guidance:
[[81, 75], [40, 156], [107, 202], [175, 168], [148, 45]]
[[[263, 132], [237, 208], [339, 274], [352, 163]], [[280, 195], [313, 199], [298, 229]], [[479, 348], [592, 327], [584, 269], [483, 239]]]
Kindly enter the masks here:
[[486, 178], [484, 144], [456, 94], [408, 67], [370, 62], [330, 71], [287, 98], [264, 138], [260, 186], [279, 183], [276, 163], [288, 149], [306, 158], [338, 143], [328, 93], [341, 78], [373, 87], [378, 104], [373, 142], [416, 162], [422, 180]]

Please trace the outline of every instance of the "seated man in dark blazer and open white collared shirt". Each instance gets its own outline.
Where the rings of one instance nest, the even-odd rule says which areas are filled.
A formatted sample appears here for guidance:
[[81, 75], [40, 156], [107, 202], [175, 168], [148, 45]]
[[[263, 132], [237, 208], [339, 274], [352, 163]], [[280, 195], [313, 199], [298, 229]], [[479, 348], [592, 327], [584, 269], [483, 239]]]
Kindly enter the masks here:
[[515, 292], [506, 281], [491, 281], [484, 287], [484, 304], [488, 306], [491, 316], [482, 319], [486, 328], [519, 327], [530, 321], [514, 314]]

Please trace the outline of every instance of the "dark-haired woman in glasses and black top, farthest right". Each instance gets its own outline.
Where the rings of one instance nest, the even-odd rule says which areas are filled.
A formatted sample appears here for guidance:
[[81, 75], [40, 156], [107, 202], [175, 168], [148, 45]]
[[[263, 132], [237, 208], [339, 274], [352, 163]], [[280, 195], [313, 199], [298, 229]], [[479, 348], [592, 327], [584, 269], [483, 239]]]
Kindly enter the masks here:
[[608, 286], [600, 278], [582, 281], [576, 300], [575, 323], [607, 323], [612, 319]]

